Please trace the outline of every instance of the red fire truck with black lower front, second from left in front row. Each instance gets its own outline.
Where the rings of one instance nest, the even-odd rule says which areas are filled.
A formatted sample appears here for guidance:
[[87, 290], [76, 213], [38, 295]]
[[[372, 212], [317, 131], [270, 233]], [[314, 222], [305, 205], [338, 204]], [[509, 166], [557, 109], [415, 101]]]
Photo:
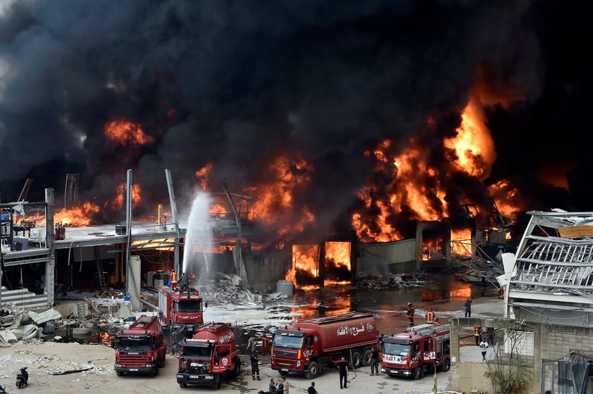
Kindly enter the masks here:
[[220, 382], [239, 376], [241, 360], [235, 331], [230, 323], [208, 323], [198, 327], [192, 338], [180, 341], [177, 383], [220, 388]]

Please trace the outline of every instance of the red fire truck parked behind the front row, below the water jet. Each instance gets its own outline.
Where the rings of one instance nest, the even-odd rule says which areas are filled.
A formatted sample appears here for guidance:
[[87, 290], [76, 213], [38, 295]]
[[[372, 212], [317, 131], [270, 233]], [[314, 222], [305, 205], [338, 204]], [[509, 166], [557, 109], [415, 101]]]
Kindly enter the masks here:
[[[178, 289], [179, 290], [179, 289]], [[158, 286], [158, 319], [170, 329], [191, 333], [197, 326], [204, 324], [204, 308], [199, 291], [190, 288], [182, 293], [166, 285]]]

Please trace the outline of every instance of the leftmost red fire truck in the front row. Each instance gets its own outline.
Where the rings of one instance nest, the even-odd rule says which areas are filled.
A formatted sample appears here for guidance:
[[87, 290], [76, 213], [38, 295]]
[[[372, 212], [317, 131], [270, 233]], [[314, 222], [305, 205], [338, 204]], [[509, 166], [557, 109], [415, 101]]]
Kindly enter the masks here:
[[113, 369], [118, 376], [129, 372], [156, 375], [165, 367], [167, 345], [156, 316], [142, 314], [129, 329], [118, 331], [112, 346], [116, 349]]

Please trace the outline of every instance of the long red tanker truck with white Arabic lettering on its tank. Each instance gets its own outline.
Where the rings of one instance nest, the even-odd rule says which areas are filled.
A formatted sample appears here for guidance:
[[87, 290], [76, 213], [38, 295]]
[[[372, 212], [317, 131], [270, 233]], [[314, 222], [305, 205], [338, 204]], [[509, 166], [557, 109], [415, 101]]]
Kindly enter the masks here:
[[370, 365], [379, 332], [373, 314], [349, 312], [316, 317], [277, 329], [272, 338], [272, 369], [282, 376], [305, 374], [315, 379], [346, 357], [354, 368]]

